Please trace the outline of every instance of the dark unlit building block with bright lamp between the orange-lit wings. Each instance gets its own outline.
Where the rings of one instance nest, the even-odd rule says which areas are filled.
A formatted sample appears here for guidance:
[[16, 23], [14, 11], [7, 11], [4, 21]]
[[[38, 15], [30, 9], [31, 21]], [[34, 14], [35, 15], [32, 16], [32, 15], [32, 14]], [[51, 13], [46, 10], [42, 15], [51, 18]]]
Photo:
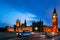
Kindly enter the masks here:
[[43, 22], [40, 20], [38, 22], [32, 23], [33, 32], [43, 32]]

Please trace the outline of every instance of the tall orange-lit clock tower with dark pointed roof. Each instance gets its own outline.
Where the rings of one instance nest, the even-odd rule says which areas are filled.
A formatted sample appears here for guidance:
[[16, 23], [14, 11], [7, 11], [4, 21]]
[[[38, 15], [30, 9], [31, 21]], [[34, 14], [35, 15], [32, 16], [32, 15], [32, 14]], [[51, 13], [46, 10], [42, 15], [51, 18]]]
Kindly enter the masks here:
[[52, 15], [52, 32], [58, 32], [58, 15], [55, 8]]

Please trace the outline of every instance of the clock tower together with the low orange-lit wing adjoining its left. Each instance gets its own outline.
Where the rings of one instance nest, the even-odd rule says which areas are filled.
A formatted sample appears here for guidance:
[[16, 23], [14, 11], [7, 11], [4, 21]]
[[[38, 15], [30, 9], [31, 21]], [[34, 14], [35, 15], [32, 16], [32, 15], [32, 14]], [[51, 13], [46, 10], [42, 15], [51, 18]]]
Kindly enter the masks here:
[[52, 15], [52, 26], [44, 26], [44, 32], [58, 32], [58, 15], [56, 9], [54, 9]]

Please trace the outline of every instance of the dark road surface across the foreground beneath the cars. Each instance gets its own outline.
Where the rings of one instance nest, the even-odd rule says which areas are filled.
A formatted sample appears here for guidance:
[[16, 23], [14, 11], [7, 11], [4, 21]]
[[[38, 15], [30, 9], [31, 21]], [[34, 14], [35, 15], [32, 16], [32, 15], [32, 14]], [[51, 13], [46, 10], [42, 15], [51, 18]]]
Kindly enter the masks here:
[[46, 38], [44, 35], [40, 35], [39, 33], [35, 33], [35, 35], [30, 37], [17, 37], [16, 33], [0, 33], [0, 40], [60, 40], [60, 36], [53, 38]]

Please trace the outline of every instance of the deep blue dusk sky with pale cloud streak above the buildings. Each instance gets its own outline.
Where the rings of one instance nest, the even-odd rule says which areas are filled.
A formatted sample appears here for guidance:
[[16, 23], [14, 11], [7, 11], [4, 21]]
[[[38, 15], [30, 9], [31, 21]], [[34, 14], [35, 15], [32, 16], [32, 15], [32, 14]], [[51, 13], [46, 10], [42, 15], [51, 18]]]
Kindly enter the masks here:
[[20, 19], [27, 25], [42, 20], [44, 25], [52, 25], [52, 14], [56, 8], [60, 27], [60, 0], [0, 0], [0, 27], [12, 26]]

